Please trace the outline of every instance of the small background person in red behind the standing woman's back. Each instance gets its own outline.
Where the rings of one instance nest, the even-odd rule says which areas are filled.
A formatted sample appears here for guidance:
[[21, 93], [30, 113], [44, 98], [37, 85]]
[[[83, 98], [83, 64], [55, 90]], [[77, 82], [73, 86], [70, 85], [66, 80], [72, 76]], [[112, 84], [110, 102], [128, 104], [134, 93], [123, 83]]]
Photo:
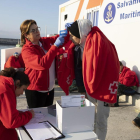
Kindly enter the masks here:
[[12, 56], [8, 58], [8, 60], [4, 65], [4, 68], [10, 68], [10, 67], [24, 71], [25, 65], [23, 63], [21, 54], [15, 52]]

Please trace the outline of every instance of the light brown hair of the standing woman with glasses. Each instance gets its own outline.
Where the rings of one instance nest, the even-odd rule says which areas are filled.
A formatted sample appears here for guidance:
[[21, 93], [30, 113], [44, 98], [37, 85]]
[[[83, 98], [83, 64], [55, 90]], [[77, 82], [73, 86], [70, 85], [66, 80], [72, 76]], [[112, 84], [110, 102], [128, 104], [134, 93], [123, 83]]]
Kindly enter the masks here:
[[23, 21], [22, 24], [20, 25], [21, 45], [25, 44], [25, 35], [24, 34], [29, 34], [29, 29], [30, 29], [32, 24], [37, 25], [35, 20], [29, 19], [29, 20]]

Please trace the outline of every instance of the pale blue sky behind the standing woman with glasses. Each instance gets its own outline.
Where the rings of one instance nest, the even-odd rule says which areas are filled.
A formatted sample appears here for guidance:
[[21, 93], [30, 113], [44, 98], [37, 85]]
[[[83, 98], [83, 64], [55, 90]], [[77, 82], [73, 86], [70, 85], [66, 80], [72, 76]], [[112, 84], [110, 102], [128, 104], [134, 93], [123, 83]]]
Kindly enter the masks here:
[[0, 38], [20, 38], [20, 25], [33, 19], [41, 36], [58, 33], [59, 5], [68, 0], [0, 0]]

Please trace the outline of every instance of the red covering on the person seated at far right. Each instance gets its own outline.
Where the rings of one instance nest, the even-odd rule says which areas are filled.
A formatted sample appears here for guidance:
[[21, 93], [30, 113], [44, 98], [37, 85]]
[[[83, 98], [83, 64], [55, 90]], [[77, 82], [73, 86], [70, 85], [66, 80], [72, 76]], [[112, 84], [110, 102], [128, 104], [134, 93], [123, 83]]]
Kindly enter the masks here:
[[128, 87], [139, 86], [139, 80], [136, 73], [126, 66], [123, 66], [122, 72], [119, 75], [119, 82]]

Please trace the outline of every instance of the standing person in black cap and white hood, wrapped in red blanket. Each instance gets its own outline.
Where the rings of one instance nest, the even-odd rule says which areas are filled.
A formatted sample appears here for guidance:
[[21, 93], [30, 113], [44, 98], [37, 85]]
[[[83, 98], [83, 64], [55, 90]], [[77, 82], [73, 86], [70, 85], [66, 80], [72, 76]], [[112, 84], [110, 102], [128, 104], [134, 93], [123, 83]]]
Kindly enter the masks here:
[[97, 100], [95, 132], [105, 140], [110, 108], [104, 102], [112, 106], [117, 99], [119, 59], [115, 46], [87, 19], [75, 21], [68, 30], [75, 44], [73, 63], [78, 90], [93, 103]]

